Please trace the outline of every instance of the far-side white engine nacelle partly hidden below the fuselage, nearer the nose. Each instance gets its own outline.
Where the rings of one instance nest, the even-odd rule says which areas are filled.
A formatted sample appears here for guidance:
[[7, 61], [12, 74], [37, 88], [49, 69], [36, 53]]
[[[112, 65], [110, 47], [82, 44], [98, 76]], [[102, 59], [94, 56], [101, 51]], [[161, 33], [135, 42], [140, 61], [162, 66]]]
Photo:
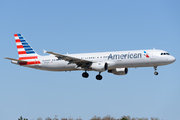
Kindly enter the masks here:
[[108, 70], [109, 73], [113, 73], [115, 75], [126, 75], [128, 73], [128, 68], [116, 68], [112, 70]]

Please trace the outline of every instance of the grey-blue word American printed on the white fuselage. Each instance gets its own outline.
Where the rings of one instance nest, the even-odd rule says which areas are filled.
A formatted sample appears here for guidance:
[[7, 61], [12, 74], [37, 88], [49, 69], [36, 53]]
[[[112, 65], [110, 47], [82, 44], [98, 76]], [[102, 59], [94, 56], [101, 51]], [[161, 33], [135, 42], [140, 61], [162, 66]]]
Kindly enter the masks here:
[[142, 58], [141, 53], [128, 53], [128, 54], [110, 54], [108, 56], [109, 59], [136, 59]]

